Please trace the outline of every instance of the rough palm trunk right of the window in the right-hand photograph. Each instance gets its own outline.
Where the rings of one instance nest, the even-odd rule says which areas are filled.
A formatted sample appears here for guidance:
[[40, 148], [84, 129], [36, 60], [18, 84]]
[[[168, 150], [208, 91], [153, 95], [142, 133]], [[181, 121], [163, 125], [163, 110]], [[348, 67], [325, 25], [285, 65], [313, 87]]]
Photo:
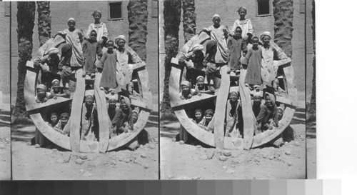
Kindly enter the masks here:
[[293, 0], [274, 0], [274, 41], [291, 58], [293, 56]]

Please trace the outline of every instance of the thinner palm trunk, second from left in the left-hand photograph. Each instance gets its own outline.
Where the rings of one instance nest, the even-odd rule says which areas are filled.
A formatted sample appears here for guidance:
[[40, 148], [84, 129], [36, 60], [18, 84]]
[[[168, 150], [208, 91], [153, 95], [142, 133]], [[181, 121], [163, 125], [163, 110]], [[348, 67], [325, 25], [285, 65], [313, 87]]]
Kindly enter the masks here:
[[40, 46], [51, 38], [51, 16], [49, 1], [37, 1], [37, 13], [39, 13], [39, 41]]

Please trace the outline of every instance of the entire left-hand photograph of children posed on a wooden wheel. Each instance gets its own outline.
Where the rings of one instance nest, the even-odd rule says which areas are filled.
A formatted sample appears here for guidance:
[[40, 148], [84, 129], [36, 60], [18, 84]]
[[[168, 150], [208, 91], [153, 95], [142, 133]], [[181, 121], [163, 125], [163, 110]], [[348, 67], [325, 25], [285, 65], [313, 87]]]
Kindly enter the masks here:
[[157, 11], [11, 2], [13, 179], [159, 179]]

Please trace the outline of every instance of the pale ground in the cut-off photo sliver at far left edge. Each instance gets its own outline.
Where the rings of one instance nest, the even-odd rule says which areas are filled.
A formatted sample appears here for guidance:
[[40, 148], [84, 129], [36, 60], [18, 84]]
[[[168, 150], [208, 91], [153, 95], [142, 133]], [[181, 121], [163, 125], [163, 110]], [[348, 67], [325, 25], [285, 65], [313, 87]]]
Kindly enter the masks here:
[[10, 96], [3, 94], [0, 111], [0, 180], [11, 179]]

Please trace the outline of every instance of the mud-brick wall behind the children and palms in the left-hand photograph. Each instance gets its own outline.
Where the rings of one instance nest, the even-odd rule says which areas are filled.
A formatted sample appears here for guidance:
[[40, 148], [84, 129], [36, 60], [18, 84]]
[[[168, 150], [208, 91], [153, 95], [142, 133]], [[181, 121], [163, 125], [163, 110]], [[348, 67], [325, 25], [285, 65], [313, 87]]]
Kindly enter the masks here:
[[[94, 22], [93, 16], [91, 14], [94, 10], [99, 9], [102, 13], [101, 21], [106, 24], [106, 28], [109, 31], [110, 39], [115, 39], [116, 36], [124, 34], [126, 39], [129, 36], [129, 21], [128, 21], [128, 1], [122, 1], [121, 6], [121, 16], [123, 19], [120, 20], [109, 20], [109, 5], [108, 1], [51, 1], [51, 36], [54, 36], [56, 32], [62, 31], [68, 28], [67, 21], [70, 17], [76, 20], [76, 28], [86, 31], [89, 24]], [[147, 34], [147, 59], [146, 59], [146, 69], [149, 72], [149, 85], [153, 94], [157, 94], [158, 91], [158, 22], [157, 18], [151, 17], [151, 0], [148, 1], [148, 34]], [[13, 36], [11, 37], [11, 70], [12, 70], [12, 89], [13, 96], [16, 96], [16, 83], [17, 83], [17, 61], [19, 59], [18, 49], [17, 49], [17, 5], [16, 2], [11, 2], [11, 31]], [[34, 27], [34, 49], [32, 54], [36, 54], [37, 49], [39, 49], [39, 34], [37, 26], [37, 10], [35, 16], [35, 27]], [[1, 29], [2, 30], [2, 29]]]

